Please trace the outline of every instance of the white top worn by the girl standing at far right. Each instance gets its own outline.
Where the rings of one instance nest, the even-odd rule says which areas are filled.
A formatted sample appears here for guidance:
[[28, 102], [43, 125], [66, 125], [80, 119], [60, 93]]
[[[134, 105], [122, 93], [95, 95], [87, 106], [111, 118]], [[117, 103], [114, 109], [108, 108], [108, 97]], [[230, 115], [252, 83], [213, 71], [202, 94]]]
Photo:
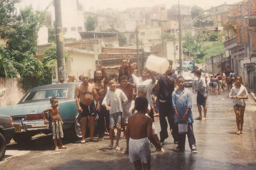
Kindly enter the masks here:
[[[237, 89], [235, 86], [232, 87], [229, 97], [231, 98], [232, 96], [242, 96], [242, 97], [248, 97], [248, 92], [245, 88], [245, 86], [241, 85], [239, 89]], [[245, 106], [245, 100], [244, 99], [238, 99], [238, 98], [233, 98], [233, 106], [239, 104], [241, 106]]]

